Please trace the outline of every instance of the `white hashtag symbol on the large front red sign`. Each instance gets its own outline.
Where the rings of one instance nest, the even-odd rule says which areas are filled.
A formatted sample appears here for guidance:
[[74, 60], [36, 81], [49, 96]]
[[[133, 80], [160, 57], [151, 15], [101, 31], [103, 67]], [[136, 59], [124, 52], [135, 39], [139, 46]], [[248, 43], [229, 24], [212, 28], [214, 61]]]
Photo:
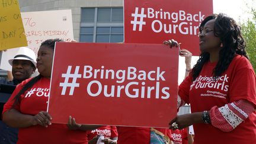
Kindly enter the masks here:
[[[75, 73], [71, 73], [72, 66], [68, 66], [66, 73], [62, 73], [62, 78], [65, 78], [64, 82], [60, 82], [60, 87], [62, 87], [62, 94], [66, 94], [66, 88], [70, 87], [69, 95], [73, 95], [75, 87], [79, 87], [79, 83], [76, 83], [77, 78], [81, 78], [81, 74], [78, 74], [80, 66], [76, 66]], [[69, 78], [73, 78], [72, 82], [69, 82]]]

